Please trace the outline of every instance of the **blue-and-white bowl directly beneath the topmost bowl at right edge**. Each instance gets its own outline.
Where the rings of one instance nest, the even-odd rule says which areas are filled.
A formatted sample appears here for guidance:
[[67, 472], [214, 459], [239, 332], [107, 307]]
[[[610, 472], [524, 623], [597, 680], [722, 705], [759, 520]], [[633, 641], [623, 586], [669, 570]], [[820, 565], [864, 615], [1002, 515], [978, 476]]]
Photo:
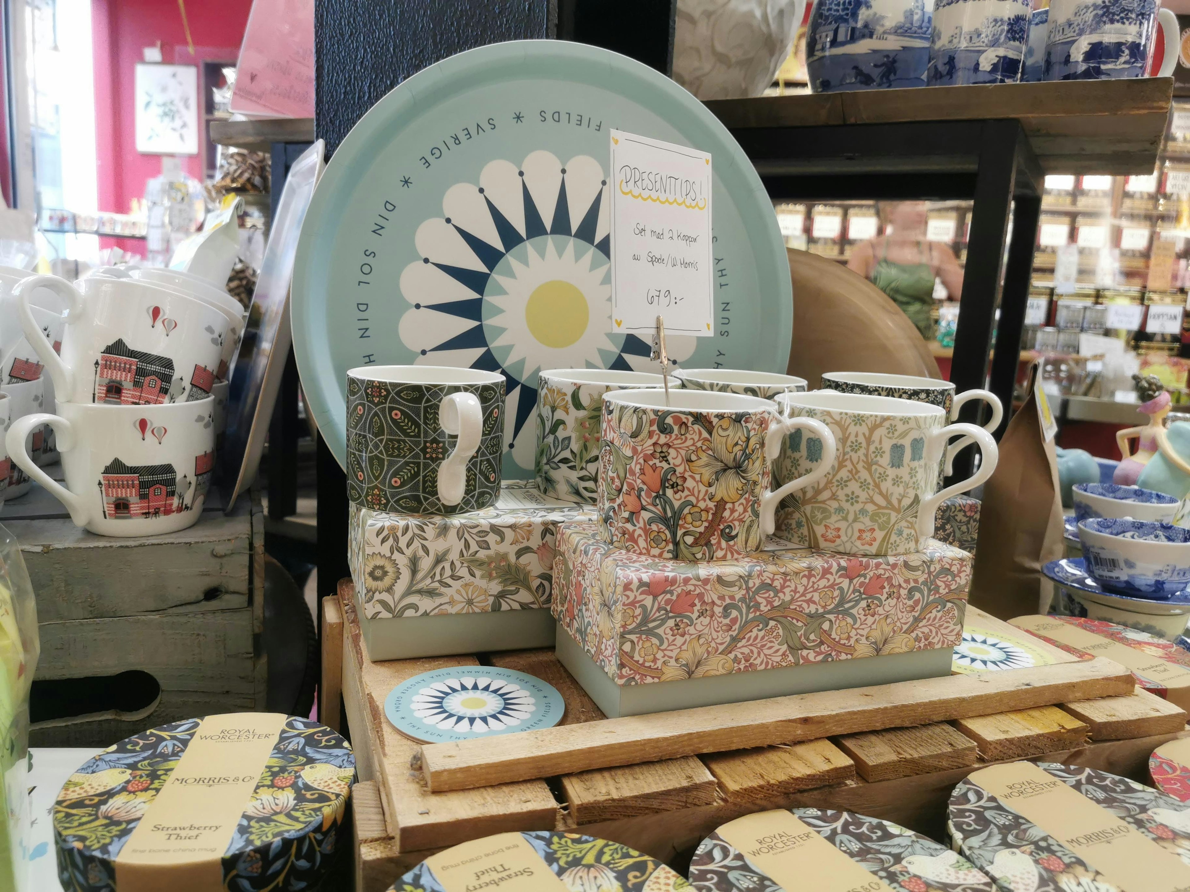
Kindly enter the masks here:
[[1091, 517], [1078, 524], [1078, 538], [1086, 571], [1106, 589], [1165, 598], [1190, 584], [1190, 529]]

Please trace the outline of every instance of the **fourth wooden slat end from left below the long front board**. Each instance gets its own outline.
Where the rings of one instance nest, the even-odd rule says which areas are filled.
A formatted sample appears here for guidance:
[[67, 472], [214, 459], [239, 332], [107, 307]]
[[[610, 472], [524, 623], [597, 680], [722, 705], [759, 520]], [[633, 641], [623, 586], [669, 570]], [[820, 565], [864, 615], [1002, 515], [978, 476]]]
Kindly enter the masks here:
[[948, 724], [852, 734], [835, 741], [864, 780], [892, 780], [976, 762], [975, 742]]

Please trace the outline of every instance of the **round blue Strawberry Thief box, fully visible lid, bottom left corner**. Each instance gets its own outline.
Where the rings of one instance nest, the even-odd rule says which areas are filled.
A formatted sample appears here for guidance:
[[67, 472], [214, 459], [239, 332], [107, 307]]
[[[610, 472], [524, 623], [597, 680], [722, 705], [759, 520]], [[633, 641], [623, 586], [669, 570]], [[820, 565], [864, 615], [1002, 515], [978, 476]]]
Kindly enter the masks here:
[[355, 767], [343, 737], [294, 716], [152, 728], [89, 759], [58, 792], [58, 873], [88, 892], [309, 888], [342, 842]]

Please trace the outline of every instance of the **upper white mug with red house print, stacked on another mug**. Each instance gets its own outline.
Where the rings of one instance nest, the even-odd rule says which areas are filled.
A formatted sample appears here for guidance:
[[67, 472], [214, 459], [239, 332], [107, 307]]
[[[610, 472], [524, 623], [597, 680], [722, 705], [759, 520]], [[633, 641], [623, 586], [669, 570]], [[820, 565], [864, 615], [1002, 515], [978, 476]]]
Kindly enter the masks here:
[[[33, 316], [38, 289], [67, 302], [61, 356]], [[13, 294], [58, 401], [156, 406], [211, 396], [228, 325], [214, 307], [148, 282], [99, 276], [77, 285], [31, 276]]]

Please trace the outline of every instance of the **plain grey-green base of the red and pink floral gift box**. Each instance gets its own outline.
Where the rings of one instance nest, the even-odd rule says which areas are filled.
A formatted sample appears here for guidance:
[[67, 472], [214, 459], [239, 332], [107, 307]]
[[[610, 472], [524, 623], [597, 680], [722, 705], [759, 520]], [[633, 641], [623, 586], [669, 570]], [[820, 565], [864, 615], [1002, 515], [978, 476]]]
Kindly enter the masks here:
[[570, 671], [608, 718], [695, 706], [716, 706], [722, 703], [743, 703], [791, 693], [837, 691], [844, 687], [938, 678], [951, 674], [951, 661], [954, 657], [953, 649], [945, 647], [887, 657], [864, 657], [858, 660], [833, 660], [806, 666], [737, 672], [729, 676], [690, 678], [684, 681], [618, 685], [562, 626], [558, 626], [556, 652], [558, 661]]

